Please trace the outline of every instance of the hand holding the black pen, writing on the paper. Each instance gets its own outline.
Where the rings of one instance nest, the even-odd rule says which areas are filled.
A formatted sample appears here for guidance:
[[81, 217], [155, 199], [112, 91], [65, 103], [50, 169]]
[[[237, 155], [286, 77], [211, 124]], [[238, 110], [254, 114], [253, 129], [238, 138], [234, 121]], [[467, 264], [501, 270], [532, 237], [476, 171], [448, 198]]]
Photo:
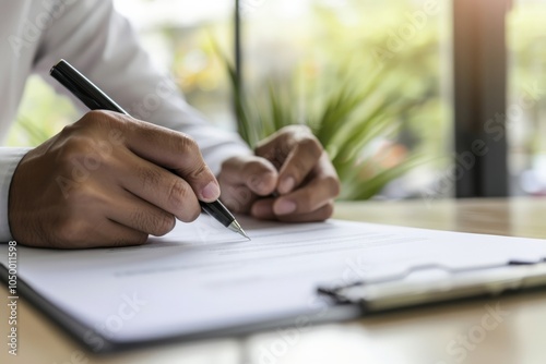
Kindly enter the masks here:
[[175, 218], [194, 220], [198, 198], [218, 197], [190, 137], [92, 111], [21, 160], [9, 221], [13, 238], [32, 246], [131, 245], [169, 232]]

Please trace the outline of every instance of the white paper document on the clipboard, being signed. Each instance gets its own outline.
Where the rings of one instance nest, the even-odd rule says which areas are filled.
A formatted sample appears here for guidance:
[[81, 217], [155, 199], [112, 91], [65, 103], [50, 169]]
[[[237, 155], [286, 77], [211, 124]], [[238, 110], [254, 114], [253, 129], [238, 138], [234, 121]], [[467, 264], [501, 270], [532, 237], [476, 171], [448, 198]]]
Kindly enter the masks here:
[[[239, 222], [251, 241], [203, 215], [141, 246], [17, 246], [17, 278], [93, 332], [128, 343], [288, 317], [305, 324], [329, 310], [319, 286], [419, 266], [449, 271], [546, 258], [544, 240], [339, 220]], [[7, 266], [8, 246], [1, 248]]]

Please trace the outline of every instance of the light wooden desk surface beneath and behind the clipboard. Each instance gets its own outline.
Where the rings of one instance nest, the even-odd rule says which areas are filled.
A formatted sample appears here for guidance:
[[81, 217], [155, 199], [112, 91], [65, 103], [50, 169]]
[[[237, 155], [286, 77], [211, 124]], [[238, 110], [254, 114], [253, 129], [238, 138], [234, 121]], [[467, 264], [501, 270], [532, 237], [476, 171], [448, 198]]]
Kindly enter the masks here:
[[[423, 201], [343, 203], [337, 206], [336, 218], [546, 238], [546, 199], [439, 201], [429, 205]], [[2, 307], [5, 307], [7, 290], [2, 287], [0, 291]], [[497, 304], [508, 315], [491, 321], [489, 310]], [[404, 311], [351, 323], [318, 326], [305, 332], [269, 332], [245, 338], [171, 344], [107, 357], [84, 354], [63, 331], [24, 300], [19, 301], [19, 356], [9, 356], [4, 343], [8, 327], [5, 308], [1, 312], [1, 363], [546, 362], [546, 293]], [[496, 327], [484, 329], [492, 326]]]

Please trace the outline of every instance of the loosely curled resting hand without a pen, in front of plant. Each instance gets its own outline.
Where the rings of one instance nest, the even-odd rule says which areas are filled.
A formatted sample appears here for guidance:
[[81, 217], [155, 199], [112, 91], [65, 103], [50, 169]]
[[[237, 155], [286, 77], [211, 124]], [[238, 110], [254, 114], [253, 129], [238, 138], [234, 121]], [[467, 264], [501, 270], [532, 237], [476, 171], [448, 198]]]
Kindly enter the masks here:
[[221, 199], [233, 211], [290, 222], [328, 219], [340, 193], [328, 155], [311, 131], [300, 125], [264, 139], [256, 156], [226, 160], [218, 182]]

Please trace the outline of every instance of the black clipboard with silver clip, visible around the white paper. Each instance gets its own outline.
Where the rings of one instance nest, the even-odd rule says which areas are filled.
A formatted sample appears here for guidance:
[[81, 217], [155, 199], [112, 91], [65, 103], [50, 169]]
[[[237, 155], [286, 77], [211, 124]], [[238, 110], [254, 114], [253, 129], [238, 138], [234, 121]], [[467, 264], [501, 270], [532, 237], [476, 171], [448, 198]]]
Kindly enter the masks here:
[[[430, 280], [427, 282], [407, 283], [407, 278], [416, 271], [428, 269], [446, 269], [444, 267], [416, 267], [403, 277], [393, 277], [381, 281], [359, 281], [352, 284], [328, 288], [319, 287], [317, 293], [329, 303], [328, 314], [316, 317], [310, 324], [325, 324], [388, 313], [399, 308], [418, 307], [476, 298], [491, 298], [514, 294], [529, 290], [546, 288], [546, 259], [539, 263], [510, 262], [506, 266], [478, 267], [475, 269], [451, 271], [451, 280]], [[8, 269], [0, 265], [0, 280], [8, 282]], [[192, 335], [174, 336], [162, 340], [147, 340], [119, 344], [100, 337], [84, 324], [72, 317], [57, 305], [49, 302], [24, 280], [19, 281], [21, 296], [35, 308], [68, 332], [87, 351], [95, 353], [112, 353], [154, 347], [179, 341], [221, 338], [225, 336], [242, 336], [252, 332], [289, 328], [293, 318], [305, 313], [294, 313], [286, 317], [276, 317], [268, 321], [240, 325], [213, 331], [193, 332]], [[91, 336], [93, 335], [93, 336]], [[93, 339], [90, 341], [90, 338]], [[100, 342], [97, 348], [94, 343]]]

